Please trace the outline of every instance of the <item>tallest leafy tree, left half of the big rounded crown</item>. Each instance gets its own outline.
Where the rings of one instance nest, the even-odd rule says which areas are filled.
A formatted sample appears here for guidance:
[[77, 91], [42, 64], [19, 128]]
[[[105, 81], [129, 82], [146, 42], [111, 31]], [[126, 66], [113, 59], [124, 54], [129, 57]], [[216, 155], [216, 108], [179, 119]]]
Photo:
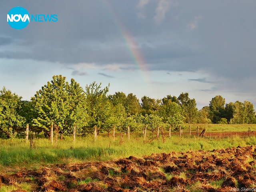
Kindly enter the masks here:
[[51, 124], [56, 130], [65, 132], [65, 120], [69, 112], [68, 82], [66, 77], [56, 75], [51, 82], [47, 82], [42, 89], [38, 90], [31, 98], [38, 117], [33, 120], [34, 126], [49, 130]]

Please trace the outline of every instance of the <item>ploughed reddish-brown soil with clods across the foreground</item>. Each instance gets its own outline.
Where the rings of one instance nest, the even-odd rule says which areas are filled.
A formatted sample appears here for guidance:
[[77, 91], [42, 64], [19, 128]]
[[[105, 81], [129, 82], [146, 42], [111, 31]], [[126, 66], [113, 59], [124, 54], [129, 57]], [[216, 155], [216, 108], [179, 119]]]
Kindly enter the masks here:
[[[256, 146], [220, 150], [172, 152], [108, 162], [56, 164], [39, 170], [0, 175], [0, 186], [30, 183], [34, 191], [222, 192], [256, 186]], [[34, 178], [34, 179], [32, 179]], [[215, 185], [214, 182], [219, 182]], [[25, 192], [24, 190], [16, 190]]]

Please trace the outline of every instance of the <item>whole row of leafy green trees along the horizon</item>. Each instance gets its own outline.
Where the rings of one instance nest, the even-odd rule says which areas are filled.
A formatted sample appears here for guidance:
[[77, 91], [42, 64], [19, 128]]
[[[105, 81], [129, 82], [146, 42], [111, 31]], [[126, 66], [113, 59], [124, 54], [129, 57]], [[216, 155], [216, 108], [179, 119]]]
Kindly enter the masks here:
[[8, 138], [24, 131], [26, 124], [34, 132], [49, 130], [51, 125], [56, 132], [71, 133], [73, 127], [82, 134], [92, 134], [94, 127], [98, 132], [108, 132], [115, 125], [120, 132], [131, 132], [147, 126], [154, 132], [158, 126], [172, 127], [177, 131], [183, 123], [256, 123], [253, 104], [244, 101], [225, 104], [222, 96], [215, 96], [209, 106], [196, 108], [196, 100], [188, 93], [176, 96], [167, 95], [162, 100], [143, 96], [141, 103], [130, 93], [107, 95], [109, 85], [93, 82], [85, 89], [74, 80], [53, 76], [30, 101], [3, 88], [0, 91], [0, 134]]

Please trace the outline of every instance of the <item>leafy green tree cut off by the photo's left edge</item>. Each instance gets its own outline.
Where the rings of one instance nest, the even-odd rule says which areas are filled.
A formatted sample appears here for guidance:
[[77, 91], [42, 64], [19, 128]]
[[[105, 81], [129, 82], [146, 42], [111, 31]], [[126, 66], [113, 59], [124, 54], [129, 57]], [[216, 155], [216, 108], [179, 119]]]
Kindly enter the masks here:
[[26, 119], [18, 114], [22, 97], [4, 87], [0, 90], [0, 134], [14, 138], [17, 128], [24, 127]]

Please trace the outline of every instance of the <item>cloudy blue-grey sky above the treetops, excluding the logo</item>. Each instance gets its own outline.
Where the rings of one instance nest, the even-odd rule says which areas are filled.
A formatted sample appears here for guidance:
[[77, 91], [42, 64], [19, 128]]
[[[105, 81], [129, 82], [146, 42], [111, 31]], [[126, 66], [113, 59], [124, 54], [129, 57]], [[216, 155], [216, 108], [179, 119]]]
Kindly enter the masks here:
[[[57, 22], [6, 22], [16, 6]], [[198, 109], [221, 95], [256, 106], [255, 0], [0, 2], [0, 89], [30, 100], [54, 75], [109, 94], [162, 99], [188, 92]]]

